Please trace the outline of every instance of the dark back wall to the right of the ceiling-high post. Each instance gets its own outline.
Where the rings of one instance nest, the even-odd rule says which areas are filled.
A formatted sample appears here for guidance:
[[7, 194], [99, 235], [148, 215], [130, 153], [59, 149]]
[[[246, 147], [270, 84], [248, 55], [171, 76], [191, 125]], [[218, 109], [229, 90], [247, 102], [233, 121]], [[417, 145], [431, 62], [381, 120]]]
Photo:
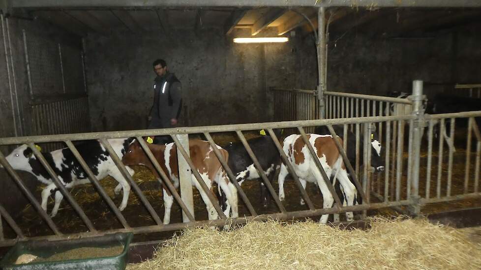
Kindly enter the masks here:
[[412, 81], [425, 81], [429, 95], [451, 91], [454, 83], [480, 83], [481, 35], [476, 27], [439, 32], [429, 38], [372, 38], [350, 33], [330, 43], [331, 91], [386, 95], [411, 92]]

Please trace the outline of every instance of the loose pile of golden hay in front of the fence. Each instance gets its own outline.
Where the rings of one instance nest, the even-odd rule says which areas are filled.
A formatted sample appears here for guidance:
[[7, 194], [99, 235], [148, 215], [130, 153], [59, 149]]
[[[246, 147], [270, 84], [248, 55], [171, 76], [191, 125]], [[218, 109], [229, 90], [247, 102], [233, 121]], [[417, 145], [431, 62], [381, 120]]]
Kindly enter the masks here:
[[425, 219], [371, 219], [368, 230], [317, 222], [250, 222], [223, 232], [185, 230], [154, 258], [128, 270], [153, 269], [480, 269], [481, 244]]

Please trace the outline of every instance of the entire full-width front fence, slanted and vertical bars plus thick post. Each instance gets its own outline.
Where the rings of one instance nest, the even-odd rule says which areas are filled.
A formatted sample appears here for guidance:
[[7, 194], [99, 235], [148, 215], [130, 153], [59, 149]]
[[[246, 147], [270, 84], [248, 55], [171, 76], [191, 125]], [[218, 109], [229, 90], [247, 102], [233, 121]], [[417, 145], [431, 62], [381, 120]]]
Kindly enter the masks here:
[[[479, 186], [479, 167], [480, 167], [480, 151], [481, 151], [481, 136], [479, 130], [479, 119], [481, 117], [481, 111], [473, 112], [461, 112], [452, 114], [439, 114], [439, 115], [425, 115], [422, 111], [422, 84], [420, 81], [415, 81], [414, 83], [415, 94], [411, 97], [412, 108], [414, 108], [409, 115], [394, 115], [394, 116], [363, 116], [363, 117], [349, 117], [349, 118], [332, 118], [332, 119], [317, 119], [317, 120], [297, 120], [297, 121], [284, 121], [284, 122], [271, 122], [271, 123], [255, 123], [255, 124], [240, 124], [240, 125], [224, 125], [224, 126], [209, 126], [209, 127], [190, 127], [190, 128], [175, 128], [175, 129], [158, 129], [158, 130], [139, 130], [139, 131], [121, 131], [121, 132], [103, 132], [103, 133], [84, 133], [84, 134], [67, 134], [67, 135], [43, 135], [43, 136], [30, 136], [30, 137], [10, 137], [10, 138], [0, 138], [0, 145], [11, 145], [11, 144], [21, 144], [27, 143], [30, 149], [33, 151], [36, 158], [44, 165], [49, 174], [56, 183], [61, 193], [74, 209], [77, 216], [81, 218], [84, 227], [88, 229], [87, 232], [63, 232], [64, 227], [60, 227], [58, 223], [47, 215], [47, 213], [41, 208], [38, 201], [35, 199], [32, 192], [25, 187], [19, 175], [15, 170], [12, 169], [10, 164], [6, 162], [4, 154], [0, 152], [0, 163], [6, 168], [8, 173], [12, 176], [12, 180], [21, 188], [26, 197], [30, 200], [33, 208], [38, 212], [39, 217], [44, 220], [44, 222], [51, 229], [51, 233], [43, 236], [35, 236], [26, 233], [25, 228], [20, 227], [15, 217], [8, 213], [3, 206], [0, 205], [0, 214], [2, 218], [6, 221], [12, 231], [16, 233], [16, 237], [11, 237], [4, 235], [0, 231], [0, 245], [11, 245], [19, 240], [26, 239], [64, 239], [64, 238], [75, 238], [75, 237], [85, 237], [100, 235], [113, 232], [134, 232], [136, 234], [148, 234], [161, 231], [178, 230], [187, 226], [198, 226], [198, 225], [224, 225], [227, 223], [239, 224], [245, 223], [254, 219], [267, 219], [267, 218], [279, 218], [279, 219], [292, 219], [297, 217], [306, 216], [319, 216], [323, 214], [333, 214], [333, 213], [345, 213], [350, 211], [362, 211], [365, 215], [367, 210], [379, 209], [386, 207], [407, 207], [410, 213], [418, 214], [420, 207], [424, 203], [436, 203], [441, 201], [456, 200], [460, 198], [473, 198], [480, 197], [481, 193], [478, 191]], [[358, 98], [358, 97], [357, 97]], [[383, 101], [385, 102], [385, 101]], [[342, 107], [339, 107], [342, 108]], [[359, 115], [358, 115], [359, 116]], [[463, 121], [467, 123], [467, 145], [466, 153], [460, 151], [462, 143], [453, 144], [456, 146], [456, 150], [449, 149], [448, 158], [444, 156], [446, 151], [443, 150], [443, 145], [446, 141], [444, 136], [438, 136], [439, 147], [436, 161], [436, 138], [435, 129], [436, 125], [440, 126], [441, 131], [445, 127], [443, 120], [450, 119], [449, 133], [451, 138], [455, 139], [455, 130], [461, 131], [461, 125]], [[427, 149], [424, 148], [424, 141], [422, 140], [423, 129], [427, 121], [428, 131], [427, 134]], [[401, 128], [405, 124], [409, 125], [409, 131], [404, 134], [404, 129]], [[382, 135], [383, 141], [386, 142], [385, 146], [383, 144], [383, 159], [385, 161], [386, 170], [381, 173], [373, 173], [370, 169], [370, 134], [372, 133], [373, 126], [379, 126], [382, 124], [382, 129], [384, 133]], [[341, 125], [343, 127], [343, 141], [348, 141], [347, 136], [355, 136], [355, 146], [356, 147], [356, 161], [350, 161], [346, 155], [345, 149], [348, 147], [353, 147], [352, 145], [343, 144], [340, 141], [334, 140], [339, 153], [342, 155], [343, 161], [346, 164], [348, 172], [350, 173], [351, 180], [358, 189], [360, 196], [362, 198], [362, 203], [353, 206], [343, 206], [340, 198], [336, 195], [334, 187], [331, 185], [330, 180], [326, 176], [324, 168], [320, 162], [316, 162], [317, 169], [323, 175], [324, 181], [329, 188], [331, 194], [333, 195], [335, 206], [330, 209], [323, 209], [322, 207], [316, 206], [316, 201], [312, 198], [315, 194], [309, 194], [309, 192], [304, 189], [299, 181], [299, 178], [294, 172], [292, 165], [289, 163], [285, 153], [282, 150], [281, 141], [275, 136], [274, 129], [296, 129], [299, 134], [301, 134], [304, 142], [308, 142], [306, 129], [308, 127], [316, 126], [328, 126], [331, 135], [336, 137], [332, 125]], [[349, 127], [354, 127], [354, 132], [348, 133]], [[397, 130], [394, 132], [394, 128]], [[305, 210], [289, 211], [287, 207], [278, 199], [278, 194], [275, 192], [272, 183], [269, 181], [268, 177], [264, 173], [265, 168], [261, 168], [258, 161], [258, 157], [254, 155], [252, 148], [249, 146], [248, 141], [243, 135], [245, 131], [260, 130], [265, 129], [270, 135], [277, 147], [280, 159], [289, 169], [292, 180], [296, 184], [297, 190], [289, 190], [288, 194], [294, 196], [300, 196], [306, 203]], [[227, 162], [223, 161], [220, 157], [220, 151], [215, 147], [214, 141], [211, 134], [214, 133], [224, 133], [224, 132], [235, 132], [238, 136], [240, 142], [247, 150], [254, 166], [256, 167], [259, 175], [261, 176], [261, 181], [266, 185], [269, 193], [271, 194], [276, 211], [274, 213], [261, 214], [260, 208], [252, 202], [252, 196], [247, 196], [246, 190], [242, 189]], [[213, 152], [219, 158], [222, 167], [227, 172], [230, 181], [236, 187], [240, 201], [245, 205], [245, 211], [240, 213], [240, 218], [231, 219], [225, 216], [220, 209], [219, 203], [215, 198], [215, 195], [210, 192], [208, 187], [205, 185], [201, 176], [197, 173], [197, 169], [194, 167], [193, 162], [186, 151], [188, 147], [188, 136], [193, 134], [203, 134], [210, 145], [212, 146]], [[472, 153], [473, 136], [475, 134], [476, 138], [476, 150]], [[201, 188], [208, 194], [209, 200], [217, 211], [220, 219], [217, 220], [198, 220], [195, 219], [193, 212], [193, 205], [188, 203], [192, 201], [192, 195], [190, 199], [184, 193], [181, 188], [180, 194], [173, 187], [172, 183], [168, 179], [166, 172], [164, 172], [160, 164], [155, 160], [146, 142], [143, 140], [144, 136], [148, 135], [170, 135], [175, 141], [178, 147], [179, 157], [179, 169], [180, 171], [187, 171], [191, 169], [194, 177], [199, 182]], [[113, 150], [112, 146], [108, 142], [109, 138], [125, 138], [125, 137], [135, 137], [141, 143], [142, 148], [146, 152], [150, 161], [154, 164], [156, 170], [161, 176], [161, 180], [166, 184], [168, 189], [173, 194], [175, 200], [180, 205], [182, 213], [184, 214], [184, 222], [173, 223], [173, 224], [162, 224], [162, 220], [157, 214], [157, 211], [152, 207], [151, 200], [147, 198], [144, 192], [139, 188], [136, 181], [127, 172], [121, 160]], [[363, 138], [363, 145], [360, 143], [361, 138]], [[395, 139], [393, 139], [395, 138]], [[87, 166], [84, 159], [81, 157], [79, 152], [76, 150], [73, 142], [78, 140], [92, 140], [98, 139], [109, 152], [113, 158], [116, 165], [122, 172], [123, 177], [128, 181], [132, 189], [135, 191], [136, 196], [140, 198], [143, 206], [147, 209], [150, 220], [154, 222], [154, 225], [138, 224], [132, 225], [132, 218], [128, 216], [123, 216], [122, 213], [117, 209], [116, 205], [113, 203], [112, 198], [107, 194], [106, 190], [100, 185], [100, 182], [95, 179], [90, 168]], [[100, 228], [95, 222], [92, 222], [91, 216], [86, 215], [85, 210], [79, 203], [75, 201], [74, 196], [66, 190], [61, 184], [60, 180], [55, 174], [54, 170], [46, 162], [44, 155], [39, 152], [34, 146], [35, 143], [46, 143], [46, 142], [57, 142], [61, 141], [67, 145], [67, 147], [72, 151], [75, 158], [82, 165], [83, 169], [89, 176], [91, 184], [98, 190], [100, 198], [105, 201], [109, 206], [113, 218], [117, 219], [121, 228], [118, 229], [105, 229]], [[313, 157], [317, 157], [314, 149], [309, 143], [308, 152]], [[424, 152], [427, 151], [427, 152]], [[462, 152], [462, 159], [460, 156], [454, 154]], [[360, 157], [366, 161], [364, 166], [361, 166]], [[315, 161], [318, 159], [314, 159]], [[351, 163], [352, 162], [352, 163]], [[424, 166], [425, 162], [427, 165]], [[454, 165], [460, 162], [463, 164], [464, 172], [462, 179], [463, 189], [458, 189], [459, 180], [457, 179], [457, 172], [453, 169]], [[437, 165], [437, 166], [436, 166]], [[445, 169], [445, 166], [448, 169]], [[474, 168], [475, 173], [470, 173], [471, 168]], [[433, 172], [437, 171], [436, 178]], [[188, 187], [191, 189], [191, 176], [180, 176], [180, 186]], [[435, 182], [434, 182], [435, 181]], [[426, 188], [427, 187], [427, 188]], [[184, 189], [185, 190], [185, 189]], [[433, 192], [433, 190], [435, 190]], [[439, 191], [438, 191], [439, 190]], [[435, 194], [435, 195], [433, 195]], [[252, 194], [251, 194], [252, 195]], [[155, 198], [154, 198], [155, 199]], [[128, 206], [127, 206], [128, 207]]]

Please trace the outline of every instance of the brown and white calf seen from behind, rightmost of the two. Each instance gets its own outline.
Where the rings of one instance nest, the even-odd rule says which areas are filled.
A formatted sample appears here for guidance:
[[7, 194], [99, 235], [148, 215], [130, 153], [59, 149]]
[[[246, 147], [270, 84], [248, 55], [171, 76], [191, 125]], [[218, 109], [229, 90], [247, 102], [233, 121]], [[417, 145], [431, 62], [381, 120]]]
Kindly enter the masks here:
[[[337, 147], [331, 135], [317, 135], [308, 134], [309, 143], [316, 151], [317, 159], [321, 162], [329, 179], [334, 175], [335, 179], [339, 180], [339, 184], [344, 192], [344, 205], [354, 205], [357, 203], [357, 189], [356, 186], [349, 180], [346, 166], [342, 161], [342, 156], [339, 154]], [[342, 145], [342, 140], [341, 140]], [[334, 202], [331, 192], [329, 191], [324, 179], [316, 166], [315, 160], [312, 158], [307, 145], [304, 143], [301, 135], [290, 135], [284, 139], [283, 146], [284, 153], [292, 163], [296, 175], [299, 177], [302, 186], [305, 188], [306, 182], [311, 182], [318, 185], [323, 196], [323, 207], [331, 208]], [[284, 180], [288, 174], [287, 167], [284, 163], [281, 164], [279, 172], [279, 199], [284, 200]], [[328, 180], [329, 180], [328, 179]], [[322, 215], [319, 222], [326, 223], [329, 215]], [[348, 221], [353, 220], [353, 213], [346, 213]]]

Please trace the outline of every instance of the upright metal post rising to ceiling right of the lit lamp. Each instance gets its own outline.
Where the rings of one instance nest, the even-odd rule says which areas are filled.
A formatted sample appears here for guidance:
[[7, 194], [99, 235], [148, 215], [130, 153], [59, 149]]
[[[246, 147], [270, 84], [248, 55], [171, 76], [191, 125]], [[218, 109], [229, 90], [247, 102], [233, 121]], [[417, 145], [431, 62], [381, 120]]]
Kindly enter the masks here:
[[318, 20], [318, 35], [317, 35], [317, 68], [319, 84], [317, 85], [317, 97], [319, 99], [319, 111], [321, 119], [324, 119], [324, 91], [326, 91], [326, 8], [320, 7], [317, 20]]

